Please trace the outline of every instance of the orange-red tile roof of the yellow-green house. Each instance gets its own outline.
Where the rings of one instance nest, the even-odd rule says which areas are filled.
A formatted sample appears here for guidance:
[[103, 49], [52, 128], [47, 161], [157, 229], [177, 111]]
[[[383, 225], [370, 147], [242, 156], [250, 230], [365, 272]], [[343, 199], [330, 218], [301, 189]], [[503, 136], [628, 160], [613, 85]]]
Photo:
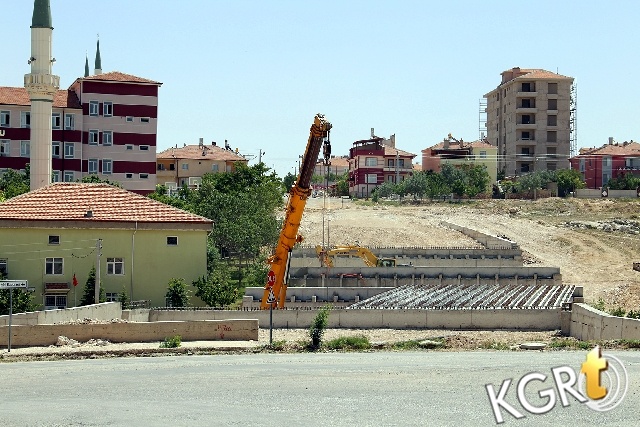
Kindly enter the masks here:
[[[91, 216], [87, 217], [87, 212]], [[0, 203], [0, 220], [191, 223], [213, 221], [108, 184], [55, 183]]]

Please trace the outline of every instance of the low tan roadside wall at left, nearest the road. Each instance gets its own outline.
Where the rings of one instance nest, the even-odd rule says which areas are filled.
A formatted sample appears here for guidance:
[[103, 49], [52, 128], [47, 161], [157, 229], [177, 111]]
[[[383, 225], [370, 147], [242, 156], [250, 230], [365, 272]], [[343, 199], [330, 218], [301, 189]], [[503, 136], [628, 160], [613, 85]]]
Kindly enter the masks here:
[[[19, 325], [11, 328], [11, 345], [48, 346], [55, 344], [61, 335], [80, 342], [92, 338], [110, 342], [153, 342], [174, 335], [180, 335], [183, 341], [257, 341], [258, 320], [237, 319], [238, 313], [234, 314], [233, 320]], [[0, 327], [0, 346], [7, 345], [8, 329], [8, 326]]]

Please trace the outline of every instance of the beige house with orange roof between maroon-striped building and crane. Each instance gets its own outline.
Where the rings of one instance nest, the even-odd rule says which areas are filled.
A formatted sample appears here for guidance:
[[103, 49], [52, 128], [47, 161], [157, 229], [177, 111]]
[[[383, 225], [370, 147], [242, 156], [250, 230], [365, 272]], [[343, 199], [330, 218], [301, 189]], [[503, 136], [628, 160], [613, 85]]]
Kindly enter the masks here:
[[236, 164], [247, 165], [248, 160], [225, 141], [220, 147], [216, 142], [205, 144], [200, 138], [198, 145], [168, 148], [156, 156], [157, 181], [167, 189], [183, 186], [197, 187], [206, 173], [233, 172]]

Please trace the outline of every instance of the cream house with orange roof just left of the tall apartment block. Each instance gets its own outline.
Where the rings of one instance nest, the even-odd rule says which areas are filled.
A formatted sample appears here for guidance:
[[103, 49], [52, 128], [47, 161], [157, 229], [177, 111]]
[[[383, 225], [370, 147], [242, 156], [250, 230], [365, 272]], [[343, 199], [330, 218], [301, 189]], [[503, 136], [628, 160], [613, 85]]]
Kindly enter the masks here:
[[440, 172], [445, 163], [484, 165], [489, 173], [489, 182], [494, 183], [498, 175], [497, 153], [498, 147], [486, 140], [466, 142], [449, 134], [442, 142], [422, 150], [422, 170]]

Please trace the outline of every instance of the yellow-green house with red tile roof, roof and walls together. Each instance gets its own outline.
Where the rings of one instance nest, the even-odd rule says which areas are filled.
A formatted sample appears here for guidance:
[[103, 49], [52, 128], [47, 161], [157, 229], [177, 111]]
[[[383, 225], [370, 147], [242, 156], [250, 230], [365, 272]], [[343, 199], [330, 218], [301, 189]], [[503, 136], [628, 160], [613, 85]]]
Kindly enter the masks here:
[[107, 300], [124, 289], [165, 306], [172, 278], [191, 284], [206, 274], [212, 226], [111, 185], [56, 183], [0, 203], [0, 270], [28, 280], [45, 309], [77, 305], [93, 266]]

